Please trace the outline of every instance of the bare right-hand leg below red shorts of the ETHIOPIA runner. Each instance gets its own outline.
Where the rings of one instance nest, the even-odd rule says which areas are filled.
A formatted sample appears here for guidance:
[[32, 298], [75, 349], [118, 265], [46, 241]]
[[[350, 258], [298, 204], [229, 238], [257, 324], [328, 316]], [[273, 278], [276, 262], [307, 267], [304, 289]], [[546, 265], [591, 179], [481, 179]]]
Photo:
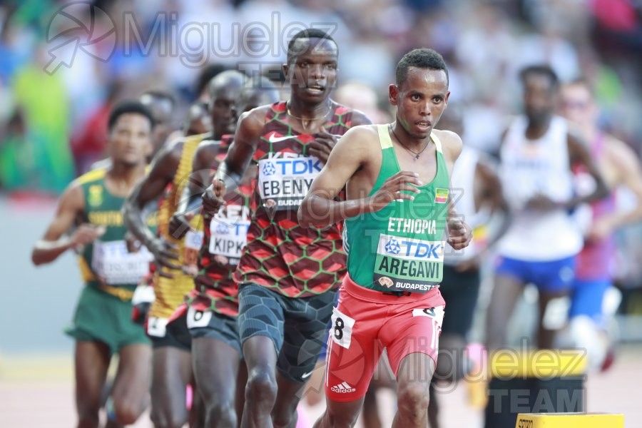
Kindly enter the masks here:
[[426, 427], [430, 379], [434, 374], [432, 357], [413, 352], [404, 357], [397, 373], [397, 414], [392, 427]]

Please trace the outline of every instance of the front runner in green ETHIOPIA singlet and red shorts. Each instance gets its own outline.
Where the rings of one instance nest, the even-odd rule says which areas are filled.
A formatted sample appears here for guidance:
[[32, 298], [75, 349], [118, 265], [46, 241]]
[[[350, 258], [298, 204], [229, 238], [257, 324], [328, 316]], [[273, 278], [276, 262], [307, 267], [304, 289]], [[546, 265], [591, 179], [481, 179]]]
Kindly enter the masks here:
[[[434, 130], [450, 94], [444, 59], [414, 49], [396, 74], [389, 86], [396, 121], [348, 131], [298, 212], [308, 227], [345, 220], [348, 253], [328, 341], [327, 410], [315, 427], [356, 422], [383, 348], [399, 383], [393, 426], [427, 426], [444, 317], [444, 245], [461, 249], [472, 238], [449, 200], [462, 140]], [[347, 199], [335, 200], [344, 186]]]

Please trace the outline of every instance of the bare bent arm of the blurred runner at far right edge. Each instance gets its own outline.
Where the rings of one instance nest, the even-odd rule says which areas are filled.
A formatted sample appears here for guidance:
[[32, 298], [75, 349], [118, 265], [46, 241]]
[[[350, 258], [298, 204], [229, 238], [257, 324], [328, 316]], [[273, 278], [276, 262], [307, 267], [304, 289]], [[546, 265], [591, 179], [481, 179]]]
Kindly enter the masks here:
[[596, 219], [591, 227], [589, 238], [606, 238], [623, 225], [642, 220], [642, 167], [636, 153], [626, 143], [611, 136], [606, 137], [604, 156], [609, 170], [615, 174], [611, 187], [623, 185], [636, 195], [636, 207], [626, 212], [613, 212]]

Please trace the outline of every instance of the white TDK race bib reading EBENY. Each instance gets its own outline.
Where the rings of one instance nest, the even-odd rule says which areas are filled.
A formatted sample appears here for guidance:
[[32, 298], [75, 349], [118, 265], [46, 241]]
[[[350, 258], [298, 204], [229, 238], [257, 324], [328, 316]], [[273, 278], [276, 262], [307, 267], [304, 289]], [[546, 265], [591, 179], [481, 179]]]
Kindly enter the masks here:
[[315, 156], [288, 158], [285, 156], [292, 153], [275, 154], [284, 157], [258, 162], [258, 186], [263, 206], [274, 210], [298, 208], [312, 181], [322, 170], [323, 163]]

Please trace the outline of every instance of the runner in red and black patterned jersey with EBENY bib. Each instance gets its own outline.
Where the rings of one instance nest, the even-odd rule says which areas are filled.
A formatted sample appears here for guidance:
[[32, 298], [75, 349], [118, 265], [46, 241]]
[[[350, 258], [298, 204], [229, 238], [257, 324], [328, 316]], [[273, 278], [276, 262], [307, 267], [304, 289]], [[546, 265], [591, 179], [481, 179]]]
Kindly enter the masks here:
[[242, 422], [248, 427], [270, 425], [270, 414], [278, 426], [296, 418], [297, 392], [314, 370], [345, 274], [340, 225], [300, 228], [297, 208], [337, 137], [370, 123], [330, 99], [338, 58], [330, 36], [304, 30], [287, 50], [290, 100], [241, 117], [228, 156], [203, 196], [205, 210], [216, 212], [250, 162], [258, 165], [248, 243], [234, 273], [250, 373]]

